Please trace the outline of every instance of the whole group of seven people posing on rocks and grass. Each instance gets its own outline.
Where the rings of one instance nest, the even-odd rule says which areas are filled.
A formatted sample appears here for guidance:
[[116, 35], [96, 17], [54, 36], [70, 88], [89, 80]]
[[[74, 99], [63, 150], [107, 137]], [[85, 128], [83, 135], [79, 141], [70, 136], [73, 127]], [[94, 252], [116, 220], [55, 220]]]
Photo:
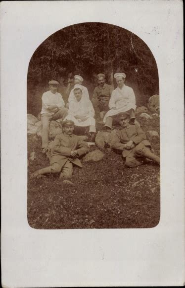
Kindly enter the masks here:
[[47, 173], [60, 173], [63, 180], [72, 177], [73, 165], [82, 167], [80, 157], [88, 153], [89, 145], [84, 138], [75, 135], [75, 127], [89, 127], [91, 139], [95, 137], [94, 110], [105, 124], [105, 130], [111, 132], [113, 119], [117, 118], [120, 129], [112, 140], [112, 148], [121, 150], [127, 167], [136, 167], [145, 158], [160, 163], [160, 158], [153, 154], [150, 143], [140, 125], [135, 124], [136, 98], [131, 87], [124, 84], [125, 73], [114, 74], [118, 87], [113, 90], [105, 83], [105, 75], [97, 75], [98, 86], [93, 91], [92, 101], [88, 89], [82, 85], [83, 78], [74, 76], [74, 87], [66, 104], [62, 95], [57, 92], [58, 82], [49, 81], [49, 91], [42, 97], [42, 152], [46, 153], [48, 145], [49, 124], [51, 120], [62, 119], [61, 134], [55, 137], [52, 144], [50, 166], [32, 174], [39, 178]]

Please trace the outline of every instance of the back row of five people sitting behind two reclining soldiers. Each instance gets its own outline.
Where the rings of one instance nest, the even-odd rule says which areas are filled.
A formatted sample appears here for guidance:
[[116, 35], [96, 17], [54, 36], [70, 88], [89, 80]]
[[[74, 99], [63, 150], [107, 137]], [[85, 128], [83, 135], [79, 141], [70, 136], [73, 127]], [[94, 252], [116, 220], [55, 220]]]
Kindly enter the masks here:
[[[88, 89], [82, 85], [83, 78], [74, 76], [74, 87], [65, 105], [62, 95], [57, 92], [58, 81], [49, 81], [49, 91], [42, 96], [42, 152], [46, 153], [48, 145], [49, 124], [51, 120], [72, 120], [75, 127], [89, 127], [91, 140], [95, 138], [95, 112], [104, 123], [107, 132], [111, 132], [113, 118], [120, 112], [128, 112], [131, 122], [135, 120], [136, 98], [131, 87], [124, 84], [125, 73], [115, 73], [118, 87], [113, 90], [105, 83], [105, 74], [97, 74], [98, 86], [93, 91], [90, 100]], [[95, 111], [94, 111], [95, 110]]]

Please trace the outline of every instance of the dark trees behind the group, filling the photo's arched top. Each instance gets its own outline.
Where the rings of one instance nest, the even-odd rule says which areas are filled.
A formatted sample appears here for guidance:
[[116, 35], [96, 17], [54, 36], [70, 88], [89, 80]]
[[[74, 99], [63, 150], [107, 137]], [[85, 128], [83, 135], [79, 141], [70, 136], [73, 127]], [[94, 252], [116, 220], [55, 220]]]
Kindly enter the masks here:
[[28, 112], [40, 112], [49, 79], [59, 81], [59, 92], [67, 102], [66, 88], [75, 74], [83, 76], [91, 97], [95, 75], [100, 72], [114, 88], [113, 74], [125, 72], [126, 84], [134, 89], [139, 106], [159, 93], [155, 59], [138, 36], [110, 24], [81, 23], [55, 32], [34, 52], [28, 69]]

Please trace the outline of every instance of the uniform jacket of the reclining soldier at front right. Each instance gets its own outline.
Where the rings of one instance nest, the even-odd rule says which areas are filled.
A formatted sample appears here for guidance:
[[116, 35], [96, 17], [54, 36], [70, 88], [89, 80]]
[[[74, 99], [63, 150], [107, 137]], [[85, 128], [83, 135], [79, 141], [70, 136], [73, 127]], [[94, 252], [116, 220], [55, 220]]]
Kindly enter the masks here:
[[120, 128], [112, 139], [112, 148], [122, 150], [123, 157], [127, 157], [133, 149], [124, 148], [124, 144], [128, 143], [130, 140], [134, 142], [135, 145], [142, 143], [145, 146], [150, 146], [149, 141], [146, 140], [145, 133], [140, 128], [140, 125], [130, 125], [126, 128]]

